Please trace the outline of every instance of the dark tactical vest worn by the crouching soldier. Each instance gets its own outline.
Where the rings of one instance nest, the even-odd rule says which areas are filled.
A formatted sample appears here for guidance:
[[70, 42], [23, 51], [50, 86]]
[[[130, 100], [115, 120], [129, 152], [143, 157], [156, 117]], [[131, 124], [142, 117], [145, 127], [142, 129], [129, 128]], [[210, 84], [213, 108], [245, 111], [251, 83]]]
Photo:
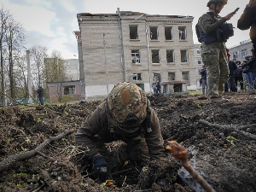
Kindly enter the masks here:
[[147, 99], [147, 116], [143, 120], [143, 122], [137, 127], [137, 131], [132, 132], [132, 133], [127, 133], [125, 131], [121, 131], [118, 128], [117, 121], [113, 119], [111, 111], [108, 107], [108, 98], [106, 99], [106, 106], [107, 106], [107, 117], [108, 117], [108, 130], [110, 132], [110, 136], [116, 139], [121, 139], [121, 140], [127, 140], [131, 137], [144, 137], [145, 133], [151, 132], [151, 123], [150, 123], [150, 116], [151, 116], [151, 111], [149, 108], [149, 103]]

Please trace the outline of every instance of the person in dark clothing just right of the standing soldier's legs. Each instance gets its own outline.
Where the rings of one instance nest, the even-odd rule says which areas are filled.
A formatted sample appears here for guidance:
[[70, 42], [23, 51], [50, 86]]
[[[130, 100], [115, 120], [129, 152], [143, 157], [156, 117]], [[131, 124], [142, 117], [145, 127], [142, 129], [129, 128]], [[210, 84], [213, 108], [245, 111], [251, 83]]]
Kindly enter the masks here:
[[234, 61], [230, 61], [230, 53], [228, 51], [227, 51], [227, 55], [229, 59], [230, 74], [229, 74], [228, 81], [224, 84], [224, 91], [229, 92], [229, 88], [230, 88], [232, 92], [237, 92], [236, 84], [235, 84], [235, 71], [237, 66]]

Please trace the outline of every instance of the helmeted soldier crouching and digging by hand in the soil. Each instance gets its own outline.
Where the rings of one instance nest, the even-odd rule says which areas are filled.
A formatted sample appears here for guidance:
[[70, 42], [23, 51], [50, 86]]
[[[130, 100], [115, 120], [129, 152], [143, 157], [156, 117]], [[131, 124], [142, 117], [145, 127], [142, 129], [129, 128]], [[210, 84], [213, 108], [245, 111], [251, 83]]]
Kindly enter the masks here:
[[[75, 135], [79, 148], [92, 161], [94, 175], [103, 183], [111, 178], [114, 162], [162, 160], [166, 157], [160, 123], [146, 93], [136, 84], [116, 84]], [[104, 143], [115, 143], [108, 150]], [[109, 154], [112, 155], [105, 155]], [[118, 164], [117, 164], [118, 165]]]

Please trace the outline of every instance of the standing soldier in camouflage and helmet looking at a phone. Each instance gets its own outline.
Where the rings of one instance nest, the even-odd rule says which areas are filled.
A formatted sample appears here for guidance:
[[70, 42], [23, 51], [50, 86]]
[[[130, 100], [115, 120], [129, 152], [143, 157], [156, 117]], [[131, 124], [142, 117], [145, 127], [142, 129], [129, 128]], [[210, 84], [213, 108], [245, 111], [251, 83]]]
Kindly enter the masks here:
[[[207, 3], [209, 12], [198, 20], [201, 35], [201, 56], [207, 66], [207, 94], [212, 102], [222, 102], [224, 83], [229, 78], [228, 58], [225, 42], [232, 36], [224, 24], [236, 14], [231, 12], [225, 17], [218, 14], [227, 4], [227, 0], [210, 0]], [[231, 32], [232, 33], [232, 32]]]

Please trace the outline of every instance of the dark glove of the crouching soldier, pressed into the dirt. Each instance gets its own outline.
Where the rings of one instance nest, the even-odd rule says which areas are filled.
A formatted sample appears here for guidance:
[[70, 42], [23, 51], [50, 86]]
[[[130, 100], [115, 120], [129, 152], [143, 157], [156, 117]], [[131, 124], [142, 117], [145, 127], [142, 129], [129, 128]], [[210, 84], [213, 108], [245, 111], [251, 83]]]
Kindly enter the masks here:
[[94, 168], [94, 176], [99, 178], [102, 183], [106, 182], [109, 175], [105, 158], [102, 155], [96, 156], [92, 162]]

